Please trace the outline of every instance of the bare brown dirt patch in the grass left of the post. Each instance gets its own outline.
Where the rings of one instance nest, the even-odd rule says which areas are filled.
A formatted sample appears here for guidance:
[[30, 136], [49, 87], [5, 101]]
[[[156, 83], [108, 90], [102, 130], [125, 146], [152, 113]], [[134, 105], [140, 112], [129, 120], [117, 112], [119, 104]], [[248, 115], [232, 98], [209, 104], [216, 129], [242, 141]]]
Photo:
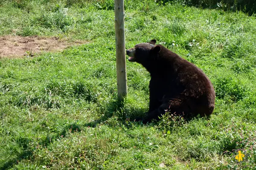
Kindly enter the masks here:
[[43, 51], [61, 51], [72, 45], [87, 42], [60, 40], [56, 37], [0, 37], [0, 57], [33, 56]]

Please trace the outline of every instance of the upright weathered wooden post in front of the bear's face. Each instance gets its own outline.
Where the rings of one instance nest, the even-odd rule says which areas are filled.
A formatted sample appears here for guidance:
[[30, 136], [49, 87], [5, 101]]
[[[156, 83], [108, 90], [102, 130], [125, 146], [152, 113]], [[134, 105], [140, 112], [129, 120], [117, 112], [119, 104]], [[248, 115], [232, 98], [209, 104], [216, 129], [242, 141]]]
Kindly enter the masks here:
[[114, 3], [116, 29], [117, 97], [119, 101], [123, 101], [124, 97], [127, 94], [124, 0], [115, 0]]

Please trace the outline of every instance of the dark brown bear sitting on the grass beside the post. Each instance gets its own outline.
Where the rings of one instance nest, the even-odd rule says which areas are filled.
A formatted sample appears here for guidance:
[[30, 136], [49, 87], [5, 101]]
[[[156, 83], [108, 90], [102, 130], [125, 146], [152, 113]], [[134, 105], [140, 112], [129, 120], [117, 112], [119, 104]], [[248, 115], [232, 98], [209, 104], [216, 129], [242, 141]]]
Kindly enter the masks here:
[[184, 116], [210, 115], [215, 91], [209, 78], [191, 62], [155, 43], [151, 40], [126, 50], [128, 60], [143, 65], [151, 76], [149, 111], [143, 123], [158, 119], [166, 110]]

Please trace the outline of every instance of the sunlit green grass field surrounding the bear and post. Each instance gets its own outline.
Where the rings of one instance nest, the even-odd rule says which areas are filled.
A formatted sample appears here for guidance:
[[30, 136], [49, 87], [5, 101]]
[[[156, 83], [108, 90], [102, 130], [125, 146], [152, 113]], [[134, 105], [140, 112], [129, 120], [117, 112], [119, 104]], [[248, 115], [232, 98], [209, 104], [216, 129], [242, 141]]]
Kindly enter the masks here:
[[214, 113], [189, 122], [129, 121], [148, 110], [137, 63], [117, 102], [112, 0], [2, 0], [5, 35], [88, 43], [0, 59], [0, 169], [256, 170], [255, 15], [125, 0], [126, 48], [156, 39], [211, 79]]

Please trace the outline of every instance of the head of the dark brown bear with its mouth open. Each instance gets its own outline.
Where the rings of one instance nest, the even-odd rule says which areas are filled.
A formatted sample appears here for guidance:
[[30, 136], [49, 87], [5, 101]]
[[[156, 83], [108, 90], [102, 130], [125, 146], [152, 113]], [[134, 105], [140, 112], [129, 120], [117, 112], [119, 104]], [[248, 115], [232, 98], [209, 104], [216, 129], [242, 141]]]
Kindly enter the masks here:
[[161, 51], [161, 46], [155, 44], [156, 40], [151, 40], [148, 43], [136, 44], [134, 48], [126, 50], [126, 54], [129, 56], [128, 61], [138, 62], [147, 68]]

